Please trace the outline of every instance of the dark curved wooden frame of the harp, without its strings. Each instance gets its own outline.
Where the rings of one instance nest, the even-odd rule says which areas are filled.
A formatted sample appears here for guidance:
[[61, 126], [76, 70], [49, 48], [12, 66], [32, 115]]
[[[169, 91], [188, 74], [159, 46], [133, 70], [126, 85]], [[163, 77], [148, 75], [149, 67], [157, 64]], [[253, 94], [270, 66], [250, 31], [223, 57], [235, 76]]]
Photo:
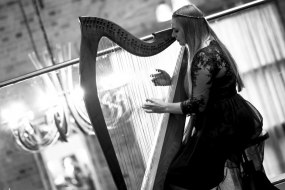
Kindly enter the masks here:
[[[170, 46], [175, 39], [171, 37], [172, 30], [170, 29], [154, 33], [152, 41], [145, 42], [136, 38], [117, 24], [102, 18], [79, 17], [79, 21], [81, 26], [80, 84], [84, 90], [86, 110], [107, 160], [114, 182], [119, 190], [126, 190], [127, 187], [108, 134], [97, 94], [96, 57], [98, 43], [102, 37], [107, 37], [129, 53], [147, 57], [162, 52]], [[185, 52], [182, 53], [183, 59], [185, 59]], [[179, 73], [182, 72], [182, 70], [185, 70], [185, 68], [181, 68]], [[182, 74], [177, 76], [178, 81], [182, 80]], [[179, 84], [182, 83], [180, 82], [178, 85]], [[183, 89], [183, 87], [177, 87], [176, 89]], [[175, 91], [174, 101], [180, 100], [182, 96], [185, 96], [184, 91]], [[162, 188], [167, 168], [181, 144], [185, 117], [170, 114], [167, 120], [165, 132], [166, 140], [163, 142], [162, 150], [159, 154], [159, 164], [156, 167], [147, 166], [149, 167], [147, 168], [148, 171], [154, 168], [156, 168], [156, 171], [154, 174], [146, 174], [145, 179], [143, 179], [143, 189]]]

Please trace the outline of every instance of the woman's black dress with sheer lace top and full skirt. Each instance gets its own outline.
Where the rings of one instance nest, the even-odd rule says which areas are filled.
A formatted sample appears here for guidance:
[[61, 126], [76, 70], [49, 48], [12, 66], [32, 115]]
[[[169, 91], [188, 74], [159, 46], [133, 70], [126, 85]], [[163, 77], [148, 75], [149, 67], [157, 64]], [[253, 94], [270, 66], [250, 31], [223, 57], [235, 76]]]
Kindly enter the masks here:
[[200, 49], [191, 66], [192, 93], [181, 103], [191, 132], [172, 161], [170, 186], [209, 190], [224, 179], [225, 162], [262, 131], [259, 112], [236, 91], [236, 77], [216, 41]]

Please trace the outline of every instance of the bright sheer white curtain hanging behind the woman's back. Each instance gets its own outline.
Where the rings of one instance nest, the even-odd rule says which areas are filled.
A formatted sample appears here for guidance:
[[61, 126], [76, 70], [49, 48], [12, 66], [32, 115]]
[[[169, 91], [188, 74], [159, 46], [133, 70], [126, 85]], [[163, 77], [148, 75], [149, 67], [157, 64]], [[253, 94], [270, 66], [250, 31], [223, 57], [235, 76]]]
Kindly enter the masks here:
[[237, 61], [246, 86], [241, 94], [263, 115], [270, 135], [264, 151], [266, 174], [272, 178], [284, 173], [285, 38], [276, 4], [251, 8], [211, 26]]

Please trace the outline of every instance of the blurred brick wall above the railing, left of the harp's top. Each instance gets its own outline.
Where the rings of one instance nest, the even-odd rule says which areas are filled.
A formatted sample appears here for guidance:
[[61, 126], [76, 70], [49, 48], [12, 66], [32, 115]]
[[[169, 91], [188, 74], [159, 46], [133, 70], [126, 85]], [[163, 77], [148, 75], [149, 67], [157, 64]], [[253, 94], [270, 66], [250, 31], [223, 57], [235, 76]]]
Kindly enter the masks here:
[[[43, 8], [40, 8], [40, 12], [50, 43], [71, 42], [73, 58], [78, 57], [79, 52], [78, 16], [107, 18], [138, 37], [155, 31], [154, 9], [158, 0], [42, 1]], [[138, 4], [140, 6], [137, 6]], [[27, 24], [31, 35], [28, 33]], [[32, 0], [2, 0], [0, 2], [0, 81], [35, 70], [27, 56], [33, 51], [32, 40], [35, 42], [36, 50], [41, 52], [45, 47], [45, 41]]]

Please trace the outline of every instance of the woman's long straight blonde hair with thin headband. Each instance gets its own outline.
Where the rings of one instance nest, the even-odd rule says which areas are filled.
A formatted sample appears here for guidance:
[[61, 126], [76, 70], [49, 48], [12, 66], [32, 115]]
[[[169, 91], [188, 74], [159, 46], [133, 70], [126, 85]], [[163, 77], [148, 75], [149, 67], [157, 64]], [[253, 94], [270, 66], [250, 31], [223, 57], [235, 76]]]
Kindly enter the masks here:
[[224, 43], [221, 42], [205, 19], [203, 12], [195, 5], [190, 4], [176, 10], [173, 13], [172, 18], [177, 19], [184, 29], [185, 40], [188, 45], [189, 61], [192, 62], [195, 53], [202, 47], [207, 39], [210, 37], [214, 38], [225, 54], [226, 61], [230, 63], [237, 79], [238, 91], [241, 91], [244, 87], [244, 83], [240, 77], [237, 64]]

